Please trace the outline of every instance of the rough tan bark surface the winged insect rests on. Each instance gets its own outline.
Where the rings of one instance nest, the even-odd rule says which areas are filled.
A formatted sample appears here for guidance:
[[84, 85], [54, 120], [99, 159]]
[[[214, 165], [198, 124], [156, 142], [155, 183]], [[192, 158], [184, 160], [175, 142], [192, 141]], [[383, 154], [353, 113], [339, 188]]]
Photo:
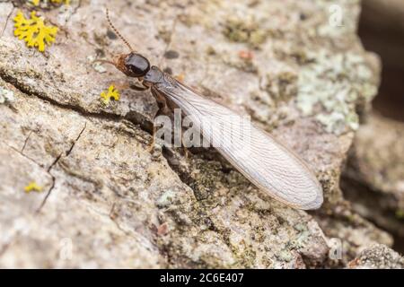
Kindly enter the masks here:
[[[95, 58], [126, 53], [109, 1], [42, 14], [57, 43], [42, 54], [13, 37], [20, 2], [1, 3], [0, 266], [263, 267], [346, 265], [391, 236], [353, 212], [339, 176], [377, 91], [380, 65], [356, 36], [358, 1], [114, 1], [121, 33], [154, 65], [240, 113], [302, 156], [325, 204], [308, 214], [253, 187], [213, 150], [148, 152], [150, 92]], [[7, 22], [4, 19], [9, 19]], [[241, 51], [253, 57], [245, 60]], [[175, 51], [175, 52], [174, 52]], [[165, 57], [164, 57], [165, 55]], [[5, 95], [5, 96], [4, 96]], [[42, 193], [24, 193], [31, 181]], [[342, 258], [329, 258], [330, 239]], [[338, 241], [337, 240], [337, 241]]]

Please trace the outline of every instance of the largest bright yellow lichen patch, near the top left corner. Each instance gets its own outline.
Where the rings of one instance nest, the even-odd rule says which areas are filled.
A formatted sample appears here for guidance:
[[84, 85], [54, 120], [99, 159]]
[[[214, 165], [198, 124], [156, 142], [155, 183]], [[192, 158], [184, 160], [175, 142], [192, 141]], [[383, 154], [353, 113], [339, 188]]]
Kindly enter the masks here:
[[28, 47], [38, 48], [40, 52], [55, 41], [57, 27], [46, 26], [43, 20], [31, 12], [31, 19], [26, 19], [21, 11], [14, 17], [14, 36], [23, 39]]

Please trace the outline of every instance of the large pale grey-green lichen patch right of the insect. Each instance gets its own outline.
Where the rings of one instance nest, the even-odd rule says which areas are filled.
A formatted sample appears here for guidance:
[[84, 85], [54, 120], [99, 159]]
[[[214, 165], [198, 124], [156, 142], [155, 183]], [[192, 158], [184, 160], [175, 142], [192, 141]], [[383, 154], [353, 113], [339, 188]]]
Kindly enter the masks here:
[[356, 54], [311, 53], [312, 63], [303, 65], [299, 74], [297, 107], [304, 116], [316, 115], [328, 133], [356, 130], [356, 105], [369, 102], [377, 92], [372, 70]]

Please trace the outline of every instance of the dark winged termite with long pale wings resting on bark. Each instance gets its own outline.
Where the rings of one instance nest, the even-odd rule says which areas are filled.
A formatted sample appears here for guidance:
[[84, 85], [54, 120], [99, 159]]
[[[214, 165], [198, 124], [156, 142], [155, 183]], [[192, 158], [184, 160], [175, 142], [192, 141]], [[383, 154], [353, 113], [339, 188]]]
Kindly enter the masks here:
[[[107, 18], [110, 22], [108, 10]], [[131, 52], [120, 55], [109, 63], [127, 76], [137, 78], [144, 89], [150, 89], [163, 113], [181, 109], [200, 128], [204, 137], [209, 138], [212, 143], [223, 143], [215, 145], [216, 150], [269, 196], [298, 209], [316, 209], [321, 206], [321, 185], [294, 152], [252, 124], [248, 133], [244, 133], [245, 127], [237, 125], [223, 125], [223, 128], [217, 130], [217, 124], [225, 124], [230, 117], [240, 119], [234, 120], [239, 123], [243, 122], [242, 117], [231, 109], [206, 99], [170, 74], [163, 73], [157, 66], [151, 66], [147, 58], [133, 51], [111, 22], [110, 26]], [[234, 134], [237, 136], [233, 136]]]

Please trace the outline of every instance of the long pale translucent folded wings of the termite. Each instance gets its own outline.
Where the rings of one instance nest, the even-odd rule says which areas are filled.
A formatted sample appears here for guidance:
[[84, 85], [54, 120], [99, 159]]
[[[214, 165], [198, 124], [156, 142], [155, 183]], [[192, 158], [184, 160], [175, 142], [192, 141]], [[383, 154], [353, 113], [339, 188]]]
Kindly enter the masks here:
[[[164, 75], [154, 89], [162, 92], [198, 125], [204, 138], [255, 186], [299, 209], [322, 204], [322, 189], [294, 152], [243, 117]], [[230, 122], [230, 123], [229, 123]]]

